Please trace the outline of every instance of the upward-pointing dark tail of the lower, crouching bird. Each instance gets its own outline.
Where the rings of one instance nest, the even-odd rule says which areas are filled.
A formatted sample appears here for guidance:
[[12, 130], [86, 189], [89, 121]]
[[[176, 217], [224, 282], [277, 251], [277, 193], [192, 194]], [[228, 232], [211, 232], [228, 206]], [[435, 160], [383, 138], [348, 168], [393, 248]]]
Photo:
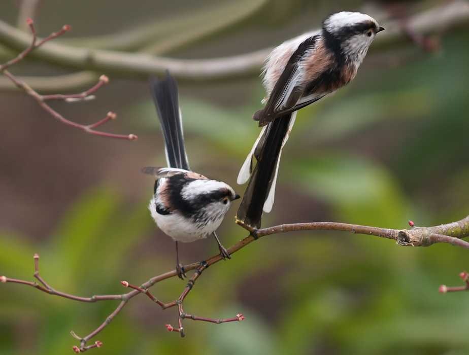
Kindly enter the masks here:
[[176, 80], [167, 71], [166, 77], [162, 80], [150, 77], [150, 84], [156, 111], [161, 123], [161, 130], [163, 131], [168, 166], [190, 170], [184, 147]]

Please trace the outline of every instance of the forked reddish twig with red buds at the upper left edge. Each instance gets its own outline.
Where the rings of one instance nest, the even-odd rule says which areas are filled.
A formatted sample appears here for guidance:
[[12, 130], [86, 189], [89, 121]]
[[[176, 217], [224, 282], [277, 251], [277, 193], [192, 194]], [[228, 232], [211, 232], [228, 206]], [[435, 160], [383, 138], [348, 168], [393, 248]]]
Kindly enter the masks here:
[[94, 124], [91, 125], [81, 125], [72, 121], [69, 121], [65, 119], [62, 115], [60, 115], [57, 111], [52, 109], [47, 103], [47, 100], [64, 100], [64, 101], [83, 101], [83, 100], [90, 100], [93, 99], [94, 96], [91, 95], [93, 92], [101, 88], [104, 84], [108, 83], [109, 79], [103, 75], [101, 78], [99, 78], [99, 82], [94, 85], [91, 89], [86, 90], [80, 94], [72, 94], [72, 95], [62, 95], [62, 94], [55, 94], [55, 95], [40, 95], [38, 94], [35, 90], [33, 90], [29, 85], [27, 85], [25, 82], [17, 79], [13, 74], [7, 70], [8, 67], [15, 65], [19, 63], [23, 58], [28, 55], [32, 50], [40, 47], [44, 43], [48, 42], [49, 40], [56, 38], [60, 36], [61, 34], [65, 33], [66, 31], [69, 31], [72, 27], [69, 25], [65, 25], [62, 27], [62, 29], [58, 32], [54, 32], [50, 34], [48, 37], [43, 39], [42, 41], [37, 43], [38, 37], [36, 34], [36, 29], [34, 28], [33, 22], [31, 19], [27, 20], [27, 24], [31, 30], [32, 33], [32, 41], [29, 47], [27, 47], [24, 51], [22, 51], [16, 58], [13, 58], [12, 60], [6, 62], [5, 64], [0, 65], [0, 73], [3, 73], [7, 78], [9, 78], [17, 87], [20, 89], [24, 90], [27, 94], [32, 96], [38, 104], [47, 112], [49, 113], [52, 117], [57, 119], [58, 121], [81, 129], [87, 133], [94, 134], [94, 135], [101, 135], [104, 137], [109, 137], [109, 138], [120, 138], [120, 139], [130, 139], [130, 140], [136, 140], [138, 137], [135, 134], [128, 134], [128, 135], [123, 135], [123, 134], [113, 134], [113, 133], [106, 133], [106, 132], [101, 132], [101, 131], [96, 131], [95, 128], [98, 126], [101, 126], [103, 123], [106, 123], [109, 120], [115, 119], [116, 114], [109, 112], [106, 116], [101, 121], [98, 121]]

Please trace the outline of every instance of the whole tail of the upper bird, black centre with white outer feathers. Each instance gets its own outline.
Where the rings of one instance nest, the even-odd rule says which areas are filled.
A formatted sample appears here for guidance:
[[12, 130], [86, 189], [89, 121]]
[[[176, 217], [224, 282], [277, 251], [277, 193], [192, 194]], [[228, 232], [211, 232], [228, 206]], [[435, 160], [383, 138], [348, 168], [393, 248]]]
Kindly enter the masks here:
[[262, 210], [270, 212], [274, 204], [280, 156], [295, 118], [296, 111], [263, 127], [238, 175], [238, 184], [245, 183], [252, 168], [252, 158], [256, 157], [257, 164], [237, 213], [238, 219], [252, 227], [260, 228]]

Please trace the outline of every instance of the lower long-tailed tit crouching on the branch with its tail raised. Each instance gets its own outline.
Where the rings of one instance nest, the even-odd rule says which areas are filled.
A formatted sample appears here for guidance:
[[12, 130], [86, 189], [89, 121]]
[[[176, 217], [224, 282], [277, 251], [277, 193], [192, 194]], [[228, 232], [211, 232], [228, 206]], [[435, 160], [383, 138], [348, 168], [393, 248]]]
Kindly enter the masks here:
[[191, 242], [213, 234], [223, 259], [231, 258], [215, 230], [231, 202], [240, 196], [229, 185], [190, 170], [176, 81], [167, 73], [161, 81], [150, 78], [150, 83], [163, 131], [168, 167], [146, 167], [142, 172], [157, 177], [149, 205], [151, 216], [156, 225], [176, 242], [176, 270], [183, 278], [185, 273], [179, 263], [178, 241]]

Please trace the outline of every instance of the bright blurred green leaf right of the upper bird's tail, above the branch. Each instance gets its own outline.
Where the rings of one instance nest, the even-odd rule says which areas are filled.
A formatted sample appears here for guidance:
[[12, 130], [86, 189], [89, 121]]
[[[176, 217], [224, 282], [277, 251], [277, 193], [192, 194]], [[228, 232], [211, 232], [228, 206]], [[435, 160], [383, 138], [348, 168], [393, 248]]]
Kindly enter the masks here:
[[[291, 163], [290, 178], [306, 193], [331, 204], [343, 221], [395, 226], [406, 214], [406, 199], [384, 167], [347, 153], [315, 154]], [[298, 179], [301, 176], [301, 179]]]

